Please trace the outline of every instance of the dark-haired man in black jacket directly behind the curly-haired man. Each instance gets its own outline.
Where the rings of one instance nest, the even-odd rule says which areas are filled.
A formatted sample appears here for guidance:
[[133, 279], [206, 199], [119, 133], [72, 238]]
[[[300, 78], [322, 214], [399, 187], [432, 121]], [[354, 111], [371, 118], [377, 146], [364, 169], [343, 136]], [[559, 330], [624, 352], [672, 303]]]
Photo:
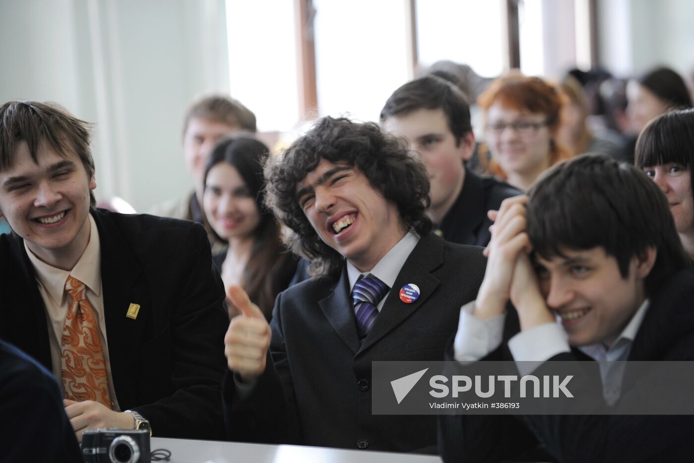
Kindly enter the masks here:
[[455, 85], [437, 76], [407, 82], [381, 110], [384, 129], [409, 142], [422, 157], [431, 182], [427, 209], [443, 239], [486, 246], [491, 220], [486, 214], [522, 192], [466, 167], [475, 150], [470, 106]]

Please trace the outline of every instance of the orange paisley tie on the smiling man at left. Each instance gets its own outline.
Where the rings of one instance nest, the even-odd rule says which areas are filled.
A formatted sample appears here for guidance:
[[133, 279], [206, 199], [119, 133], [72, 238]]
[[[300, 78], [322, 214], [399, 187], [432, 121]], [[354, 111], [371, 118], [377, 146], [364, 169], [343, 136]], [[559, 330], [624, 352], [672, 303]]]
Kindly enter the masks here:
[[65, 399], [96, 401], [112, 408], [99, 326], [87, 301], [87, 287], [78, 279], [67, 277], [65, 290], [72, 297], [60, 344]]

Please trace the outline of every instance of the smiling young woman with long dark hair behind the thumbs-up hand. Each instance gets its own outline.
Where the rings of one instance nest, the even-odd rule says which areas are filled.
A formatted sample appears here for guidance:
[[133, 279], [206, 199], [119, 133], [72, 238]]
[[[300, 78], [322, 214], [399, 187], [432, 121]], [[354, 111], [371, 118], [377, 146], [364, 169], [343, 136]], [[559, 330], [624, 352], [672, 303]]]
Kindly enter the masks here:
[[[212, 256], [224, 286], [244, 288], [267, 320], [275, 297], [289, 286], [296, 258], [282, 245], [281, 229], [264, 206], [262, 163], [268, 148], [256, 139], [234, 136], [212, 148], [205, 166], [203, 208], [210, 227], [229, 244]], [[229, 316], [238, 315], [228, 306]]]

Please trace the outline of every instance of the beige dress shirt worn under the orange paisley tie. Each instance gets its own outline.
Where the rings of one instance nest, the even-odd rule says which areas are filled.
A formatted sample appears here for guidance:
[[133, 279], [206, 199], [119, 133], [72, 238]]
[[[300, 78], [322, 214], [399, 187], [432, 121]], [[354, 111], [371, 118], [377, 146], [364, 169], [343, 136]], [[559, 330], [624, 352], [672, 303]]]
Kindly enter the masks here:
[[111, 377], [111, 364], [108, 356], [108, 342], [106, 340], [106, 322], [103, 313], [103, 293], [101, 292], [101, 245], [99, 244], [99, 231], [92, 215], [89, 216], [90, 236], [89, 243], [85, 252], [75, 264], [74, 268], [67, 272], [60, 268], [55, 268], [41, 261], [26, 245], [24, 248], [29, 260], [36, 272], [36, 280], [39, 292], [46, 306], [46, 320], [48, 322], [49, 344], [51, 346], [51, 360], [53, 362], [53, 375], [58, 379], [62, 387], [62, 368], [60, 367], [60, 340], [62, 339], [62, 329], [65, 325], [67, 311], [71, 305], [71, 297], [65, 291], [65, 281], [70, 275], [85, 283], [87, 286], [87, 300], [92, 306], [94, 317], [99, 324], [99, 335], [101, 336], [101, 347], [103, 349], [103, 360], [106, 364], [106, 375], [108, 377], [108, 392], [113, 405], [113, 410], [121, 411], [118, 405], [113, 381]]

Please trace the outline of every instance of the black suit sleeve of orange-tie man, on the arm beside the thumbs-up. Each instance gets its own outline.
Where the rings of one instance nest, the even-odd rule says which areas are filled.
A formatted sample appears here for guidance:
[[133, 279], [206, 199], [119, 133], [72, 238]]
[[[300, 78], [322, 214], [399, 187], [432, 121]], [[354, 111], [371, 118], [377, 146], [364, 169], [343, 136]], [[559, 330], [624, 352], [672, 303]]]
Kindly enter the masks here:
[[190, 227], [185, 247], [180, 249], [178, 279], [168, 285], [173, 291], [168, 298], [170, 326], [163, 333], [171, 340], [149, 344], [171, 347], [161, 355], [171, 362], [173, 390], [170, 396], [133, 410], [149, 419], [155, 436], [223, 439], [220, 387], [225, 370], [223, 339], [229, 323], [222, 304], [225, 292], [212, 266], [203, 227]]

